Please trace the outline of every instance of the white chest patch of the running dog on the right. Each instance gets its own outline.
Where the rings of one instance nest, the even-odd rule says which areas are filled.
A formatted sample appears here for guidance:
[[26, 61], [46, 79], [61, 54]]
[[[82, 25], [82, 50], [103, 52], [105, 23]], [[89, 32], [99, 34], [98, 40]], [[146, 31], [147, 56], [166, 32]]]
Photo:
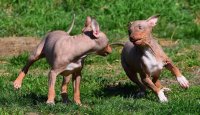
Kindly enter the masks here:
[[156, 57], [150, 49], [144, 50], [142, 61], [146, 66], [147, 72], [151, 75], [157, 71], [160, 71], [164, 66], [164, 63], [161, 60], [156, 59]]

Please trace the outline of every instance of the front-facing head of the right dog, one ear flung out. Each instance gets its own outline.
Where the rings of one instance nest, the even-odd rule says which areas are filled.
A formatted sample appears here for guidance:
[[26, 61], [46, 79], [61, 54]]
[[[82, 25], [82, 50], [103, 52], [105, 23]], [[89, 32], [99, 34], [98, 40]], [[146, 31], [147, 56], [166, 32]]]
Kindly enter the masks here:
[[137, 20], [129, 23], [129, 39], [135, 45], [145, 46], [151, 38], [151, 31], [158, 21], [159, 15], [152, 16], [147, 20]]

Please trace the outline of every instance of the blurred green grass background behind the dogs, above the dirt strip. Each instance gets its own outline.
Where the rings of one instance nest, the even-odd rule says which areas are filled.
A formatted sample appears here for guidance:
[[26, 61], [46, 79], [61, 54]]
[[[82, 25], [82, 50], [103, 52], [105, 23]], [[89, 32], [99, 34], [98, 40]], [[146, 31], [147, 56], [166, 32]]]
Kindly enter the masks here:
[[160, 14], [154, 34], [161, 38], [199, 39], [198, 0], [1, 0], [0, 37], [37, 36], [67, 30], [76, 14], [73, 34], [92, 16], [112, 41], [127, 37], [128, 22]]

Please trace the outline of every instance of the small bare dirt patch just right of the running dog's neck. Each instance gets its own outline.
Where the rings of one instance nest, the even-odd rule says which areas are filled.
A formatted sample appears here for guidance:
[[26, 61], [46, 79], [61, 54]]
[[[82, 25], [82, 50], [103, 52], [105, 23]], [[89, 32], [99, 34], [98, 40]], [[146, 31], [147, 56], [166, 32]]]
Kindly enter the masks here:
[[163, 47], [172, 47], [178, 44], [178, 40], [170, 40], [170, 39], [158, 39], [158, 42]]

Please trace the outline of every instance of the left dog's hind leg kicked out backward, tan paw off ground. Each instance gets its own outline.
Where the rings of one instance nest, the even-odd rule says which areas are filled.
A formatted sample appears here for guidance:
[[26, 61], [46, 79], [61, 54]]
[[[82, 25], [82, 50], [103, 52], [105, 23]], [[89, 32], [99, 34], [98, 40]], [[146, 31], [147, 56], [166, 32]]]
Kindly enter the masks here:
[[24, 79], [25, 75], [28, 72], [29, 67], [37, 60], [43, 57], [43, 47], [44, 47], [45, 39], [41, 41], [41, 43], [37, 46], [37, 48], [34, 50], [34, 52], [30, 55], [26, 65], [23, 67], [21, 72], [19, 73], [17, 79], [14, 81], [13, 85], [15, 89], [19, 89], [22, 84], [22, 80]]

